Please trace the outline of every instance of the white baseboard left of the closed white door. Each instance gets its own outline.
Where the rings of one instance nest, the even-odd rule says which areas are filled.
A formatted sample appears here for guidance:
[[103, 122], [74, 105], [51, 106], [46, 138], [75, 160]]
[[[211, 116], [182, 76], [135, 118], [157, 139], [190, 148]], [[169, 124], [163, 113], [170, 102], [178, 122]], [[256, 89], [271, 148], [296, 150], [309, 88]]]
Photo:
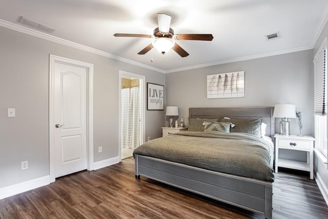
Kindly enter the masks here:
[[50, 184], [50, 175], [0, 188], [0, 200]]

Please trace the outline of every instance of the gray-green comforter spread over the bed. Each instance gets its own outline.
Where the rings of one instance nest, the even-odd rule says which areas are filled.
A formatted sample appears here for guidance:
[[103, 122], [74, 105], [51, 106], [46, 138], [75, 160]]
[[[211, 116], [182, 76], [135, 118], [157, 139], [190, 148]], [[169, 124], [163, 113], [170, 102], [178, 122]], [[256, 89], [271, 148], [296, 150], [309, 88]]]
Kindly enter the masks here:
[[262, 138], [247, 133], [179, 132], [149, 141], [135, 149], [135, 154], [274, 181], [270, 147]]

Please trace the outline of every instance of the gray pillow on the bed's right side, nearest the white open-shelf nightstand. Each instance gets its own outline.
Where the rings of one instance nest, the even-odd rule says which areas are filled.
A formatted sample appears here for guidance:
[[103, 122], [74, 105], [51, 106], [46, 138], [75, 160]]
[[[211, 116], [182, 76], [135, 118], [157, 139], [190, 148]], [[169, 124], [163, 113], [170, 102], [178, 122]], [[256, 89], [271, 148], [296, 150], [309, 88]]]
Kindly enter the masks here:
[[235, 125], [230, 128], [230, 132], [244, 132], [254, 134], [258, 137], [262, 137], [261, 134], [261, 123], [262, 118], [256, 118], [255, 120], [238, 120], [234, 118], [220, 118], [220, 122], [228, 122]]

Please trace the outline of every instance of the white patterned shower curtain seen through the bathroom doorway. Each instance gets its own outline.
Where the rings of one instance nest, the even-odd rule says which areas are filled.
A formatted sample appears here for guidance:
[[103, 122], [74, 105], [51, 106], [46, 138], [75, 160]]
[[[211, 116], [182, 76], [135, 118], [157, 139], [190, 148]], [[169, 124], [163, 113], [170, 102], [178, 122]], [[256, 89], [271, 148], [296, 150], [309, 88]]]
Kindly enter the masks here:
[[121, 146], [137, 148], [140, 145], [139, 87], [121, 90]]

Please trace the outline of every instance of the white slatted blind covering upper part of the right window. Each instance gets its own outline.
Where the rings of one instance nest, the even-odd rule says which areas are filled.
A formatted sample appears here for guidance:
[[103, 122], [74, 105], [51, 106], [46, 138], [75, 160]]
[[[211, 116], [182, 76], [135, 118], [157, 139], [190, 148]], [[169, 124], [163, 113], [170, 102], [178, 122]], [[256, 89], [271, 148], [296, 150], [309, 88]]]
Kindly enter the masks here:
[[322, 48], [314, 60], [314, 112], [326, 114], [326, 48]]

